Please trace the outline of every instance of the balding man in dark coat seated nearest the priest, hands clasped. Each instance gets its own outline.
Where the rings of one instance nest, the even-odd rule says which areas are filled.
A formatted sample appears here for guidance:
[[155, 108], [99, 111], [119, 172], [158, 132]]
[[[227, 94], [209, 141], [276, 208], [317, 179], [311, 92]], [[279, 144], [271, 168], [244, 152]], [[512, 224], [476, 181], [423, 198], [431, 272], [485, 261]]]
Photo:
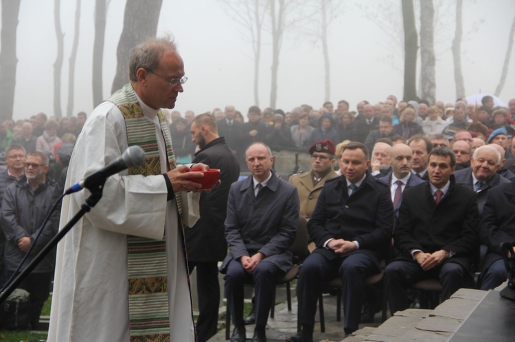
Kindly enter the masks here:
[[264, 143], [247, 148], [252, 175], [233, 183], [227, 203], [225, 238], [229, 253], [220, 271], [225, 273], [225, 295], [234, 323], [231, 342], [245, 341], [243, 285], [255, 289], [255, 330], [252, 341], [266, 341], [275, 282], [292, 267], [290, 247], [299, 224], [297, 188], [271, 171], [273, 156]]

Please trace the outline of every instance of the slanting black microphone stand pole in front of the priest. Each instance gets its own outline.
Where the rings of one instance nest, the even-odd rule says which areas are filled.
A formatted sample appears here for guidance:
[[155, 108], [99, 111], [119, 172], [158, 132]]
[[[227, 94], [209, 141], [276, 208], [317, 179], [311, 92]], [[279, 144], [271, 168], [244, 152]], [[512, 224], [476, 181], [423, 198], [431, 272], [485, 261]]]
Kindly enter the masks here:
[[57, 243], [61, 241], [63, 237], [65, 237], [71, 228], [73, 228], [73, 225], [75, 225], [87, 212], [91, 210], [91, 208], [93, 208], [98, 203], [98, 201], [100, 201], [102, 198], [102, 191], [104, 190], [105, 182], [106, 180], [104, 179], [102, 183], [88, 188], [89, 191], [91, 191], [91, 195], [89, 195], [89, 197], [86, 199], [86, 203], [82, 204], [76, 215], [71, 218], [71, 220], [62, 228], [62, 230], [60, 230], [52, 238], [52, 240], [50, 240], [49, 243], [43, 247], [43, 249], [41, 249], [41, 252], [36, 255], [36, 257], [30, 262], [29, 265], [27, 265], [27, 267], [25, 267], [23, 271], [21, 271], [19, 276], [17, 276], [16, 279], [11, 282], [7, 289], [0, 293], [0, 304], [7, 300], [12, 291], [16, 289], [16, 287], [23, 281], [23, 279], [25, 279], [29, 273], [41, 262], [41, 260], [43, 260], [43, 258], [45, 258], [45, 256], [47, 256], [47, 254], [49, 254], [49, 252], [54, 247], [56, 247]]

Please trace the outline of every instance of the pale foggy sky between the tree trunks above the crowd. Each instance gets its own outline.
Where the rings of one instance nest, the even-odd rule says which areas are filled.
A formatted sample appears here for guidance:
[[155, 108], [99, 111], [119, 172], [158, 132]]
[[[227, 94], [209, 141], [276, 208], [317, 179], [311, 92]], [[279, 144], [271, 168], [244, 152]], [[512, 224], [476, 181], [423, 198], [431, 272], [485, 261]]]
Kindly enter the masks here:
[[[367, 5], [374, 8], [374, 3]], [[115, 74], [116, 49], [122, 32], [124, 0], [111, 0], [107, 12], [106, 40], [104, 45], [104, 98], [111, 93]], [[380, 1], [399, 8], [400, 0]], [[415, 3], [417, 1], [415, 0]], [[347, 3], [347, 1], [345, 1]], [[388, 58], [391, 39], [381, 29], [386, 23], [367, 19], [355, 5], [343, 10], [330, 27], [329, 49], [331, 62], [331, 100], [350, 101], [352, 110], [356, 103], [367, 99], [371, 103], [384, 101], [389, 94], [402, 97], [402, 55]], [[453, 1], [454, 3], [454, 1]], [[65, 34], [65, 55], [62, 65], [62, 112], [67, 107], [68, 60], [73, 38], [73, 20], [76, 2], [61, 0], [61, 25]], [[419, 6], [420, 7], [420, 6]], [[454, 18], [454, 8], [451, 6]], [[94, 1], [82, 1], [80, 38], [76, 60], [75, 95], [73, 114], [91, 112], [91, 60], [94, 34]], [[47, 115], [53, 108], [53, 64], [56, 60], [53, 0], [23, 0], [19, 12], [16, 94], [14, 119], [28, 118], [37, 112]], [[464, 33], [470, 32], [473, 23], [480, 19], [477, 32], [464, 37], [462, 42], [462, 68], [466, 93], [490, 93], [499, 83], [507, 49], [508, 34], [515, 16], [512, 0], [464, 1]], [[420, 22], [420, 18], [416, 18]], [[437, 50], [437, 99], [455, 101], [453, 56], [450, 45], [455, 23], [446, 25], [444, 39]], [[189, 80], [184, 93], [179, 95], [176, 110], [195, 113], [233, 104], [244, 115], [253, 101], [253, 60], [247, 34], [216, 0], [171, 1], [163, 0], [157, 34], [172, 33], [185, 61]], [[269, 105], [271, 73], [271, 41], [264, 32], [260, 73], [260, 107]], [[279, 90], [277, 108], [291, 110], [301, 103], [314, 108], [324, 101], [323, 56], [320, 45], [312, 39], [297, 35], [284, 38], [279, 64]], [[399, 47], [401, 49], [401, 47]], [[420, 57], [418, 59], [420, 65]], [[510, 69], [501, 99], [507, 103], [515, 98], [515, 51], [512, 51]]]

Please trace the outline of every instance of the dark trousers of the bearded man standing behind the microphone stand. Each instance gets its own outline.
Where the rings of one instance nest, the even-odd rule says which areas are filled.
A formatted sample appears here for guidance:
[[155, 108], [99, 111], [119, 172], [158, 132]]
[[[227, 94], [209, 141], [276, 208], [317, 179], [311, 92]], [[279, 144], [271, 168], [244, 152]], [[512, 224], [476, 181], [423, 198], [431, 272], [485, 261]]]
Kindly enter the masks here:
[[[8, 273], [10, 277], [12, 273]], [[37, 329], [39, 325], [39, 315], [43, 304], [47, 301], [50, 294], [50, 282], [54, 278], [52, 272], [49, 273], [29, 273], [21, 284], [19, 289], [24, 289], [30, 293], [30, 326], [32, 329]]]

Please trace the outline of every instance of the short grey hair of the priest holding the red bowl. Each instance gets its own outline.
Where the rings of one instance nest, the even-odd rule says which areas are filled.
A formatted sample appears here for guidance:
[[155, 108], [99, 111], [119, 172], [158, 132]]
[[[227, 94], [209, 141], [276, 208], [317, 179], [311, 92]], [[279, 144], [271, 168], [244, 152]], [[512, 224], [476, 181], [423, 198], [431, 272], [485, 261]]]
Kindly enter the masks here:
[[143, 68], [146, 71], [154, 71], [159, 66], [163, 52], [172, 49], [177, 51], [174, 37], [171, 35], [160, 38], [151, 38], [137, 45], [133, 49], [129, 60], [129, 80], [136, 82], [137, 71]]

